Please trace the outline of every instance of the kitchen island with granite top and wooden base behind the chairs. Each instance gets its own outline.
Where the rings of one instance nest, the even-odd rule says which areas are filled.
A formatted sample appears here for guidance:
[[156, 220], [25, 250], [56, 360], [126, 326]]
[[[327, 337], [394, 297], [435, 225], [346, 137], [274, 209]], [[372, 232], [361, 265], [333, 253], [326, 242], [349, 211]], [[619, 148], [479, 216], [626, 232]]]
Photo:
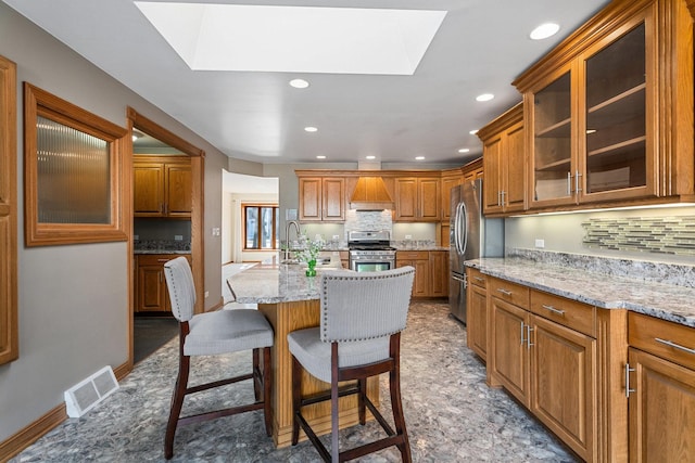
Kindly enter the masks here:
[[[333, 268], [319, 268], [318, 272]], [[319, 325], [319, 276], [308, 278], [299, 265], [260, 263], [229, 278], [232, 297], [240, 304], [257, 304], [275, 332], [273, 346], [273, 440], [277, 447], [287, 447], [292, 439], [292, 357], [287, 335], [295, 330]], [[330, 389], [330, 384], [304, 373], [302, 395]], [[378, 377], [367, 381], [367, 395], [379, 403]], [[356, 396], [340, 399], [340, 427], [359, 422]], [[317, 435], [330, 433], [330, 402], [304, 408]], [[306, 439], [300, 433], [300, 440]]]

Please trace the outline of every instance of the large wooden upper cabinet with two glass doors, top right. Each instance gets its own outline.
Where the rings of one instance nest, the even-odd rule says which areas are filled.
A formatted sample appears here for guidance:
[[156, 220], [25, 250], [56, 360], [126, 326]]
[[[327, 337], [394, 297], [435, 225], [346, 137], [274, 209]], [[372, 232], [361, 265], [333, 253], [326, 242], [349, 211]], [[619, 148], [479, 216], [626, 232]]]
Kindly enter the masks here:
[[617, 0], [514, 82], [530, 209], [692, 201], [692, 37], [685, 0]]

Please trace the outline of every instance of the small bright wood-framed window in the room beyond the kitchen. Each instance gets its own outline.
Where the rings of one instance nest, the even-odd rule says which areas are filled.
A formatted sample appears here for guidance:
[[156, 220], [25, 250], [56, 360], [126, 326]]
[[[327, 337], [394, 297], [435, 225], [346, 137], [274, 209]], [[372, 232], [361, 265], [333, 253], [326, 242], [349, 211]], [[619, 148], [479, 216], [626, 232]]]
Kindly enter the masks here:
[[243, 248], [245, 250], [277, 249], [280, 239], [280, 216], [277, 204], [242, 204]]

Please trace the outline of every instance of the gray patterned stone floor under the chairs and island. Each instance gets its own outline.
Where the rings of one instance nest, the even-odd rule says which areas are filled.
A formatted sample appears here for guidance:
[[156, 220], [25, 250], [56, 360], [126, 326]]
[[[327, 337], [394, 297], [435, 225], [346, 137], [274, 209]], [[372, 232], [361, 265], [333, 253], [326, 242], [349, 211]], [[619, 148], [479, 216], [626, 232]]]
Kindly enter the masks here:
[[[565, 448], [502, 390], [485, 383], [482, 363], [466, 347], [466, 331], [447, 306], [413, 304], [403, 334], [403, 403], [416, 462], [573, 462]], [[80, 419], [68, 419], [20, 455], [17, 462], [163, 462], [162, 442], [176, 376], [176, 339], [136, 365], [121, 388]], [[192, 378], [245, 370], [248, 352], [193, 362]], [[249, 387], [192, 398], [186, 411], [251, 397]], [[387, 378], [382, 404], [389, 411]], [[387, 415], [389, 416], [389, 415]], [[368, 423], [341, 432], [341, 447], [378, 432]], [[316, 462], [308, 442], [276, 449], [260, 412], [178, 429], [174, 462]], [[387, 449], [364, 462], [400, 461]]]

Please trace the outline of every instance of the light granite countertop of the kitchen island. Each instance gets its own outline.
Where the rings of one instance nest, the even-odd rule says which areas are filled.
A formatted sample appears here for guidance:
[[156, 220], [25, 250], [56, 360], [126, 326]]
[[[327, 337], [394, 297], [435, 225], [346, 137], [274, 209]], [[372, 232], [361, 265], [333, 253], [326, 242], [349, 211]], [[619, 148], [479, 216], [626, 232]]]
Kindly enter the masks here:
[[[319, 298], [317, 276], [306, 276], [306, 267], [276, 262], [257, 263], [231, 275], [232, 296], [241, 304], [277, 304]], [[340, 270], [336, 267], [318, 266], [317, 272]]]

